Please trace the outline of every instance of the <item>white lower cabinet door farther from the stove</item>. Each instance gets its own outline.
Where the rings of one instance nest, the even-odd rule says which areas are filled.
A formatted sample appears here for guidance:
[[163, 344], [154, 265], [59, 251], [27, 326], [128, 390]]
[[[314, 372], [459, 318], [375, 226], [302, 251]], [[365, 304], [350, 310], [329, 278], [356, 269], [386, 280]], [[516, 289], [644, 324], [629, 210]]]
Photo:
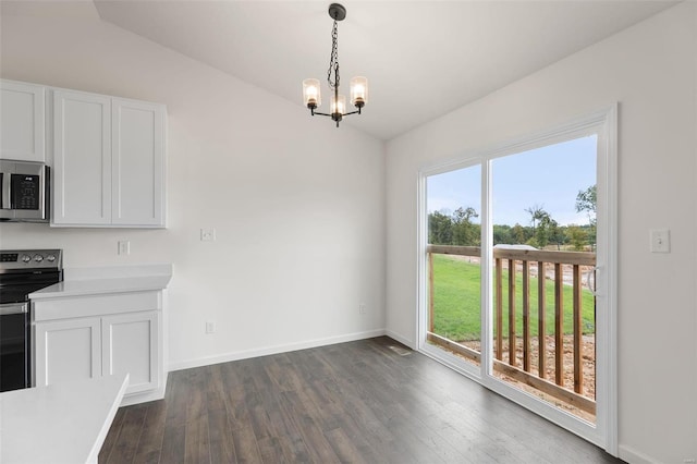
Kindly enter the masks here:
[[129, 313], [102, 318], [105, 375], [129, 374], [126, 394], [160, 386], [159, 313]]

